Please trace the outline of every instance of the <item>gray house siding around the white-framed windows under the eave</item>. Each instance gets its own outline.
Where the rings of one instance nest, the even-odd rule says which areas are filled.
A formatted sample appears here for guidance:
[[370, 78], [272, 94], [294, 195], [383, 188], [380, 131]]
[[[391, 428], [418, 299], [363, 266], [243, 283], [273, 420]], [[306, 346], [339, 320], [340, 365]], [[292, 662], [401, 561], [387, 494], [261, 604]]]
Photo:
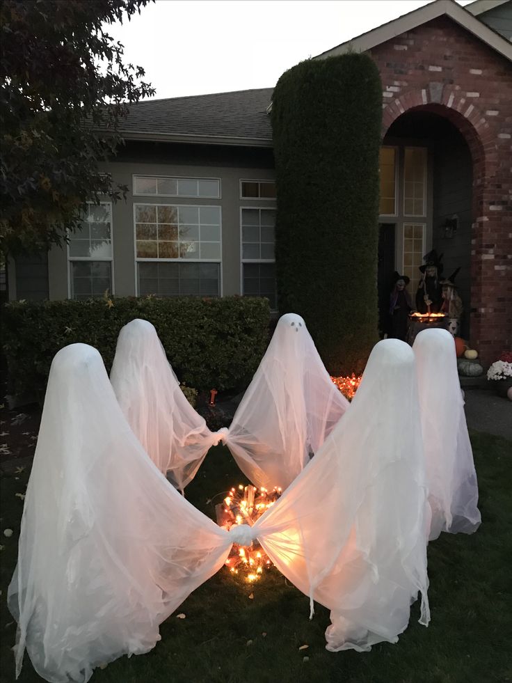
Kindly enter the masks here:
[[[136, 295], [134, 244], [134, 203], [219, 205], [222, 213], [222, 294], [241, 294], [240, 208], [275, 207], [273, 201], [241, 200], [240, 180], [274, 180], [273, 152], [269, 149], [225, 146], [186, 146], [169, 143], [129, 142], [115, 159], [104, 164], [113, 182], [126, 185], [126, 201], [113, 204], [113, 293]], [[133, 175], [190, 175], [195, 178], [220, 178], [221, 199], [189, 199], [134, 196]], [[69, 295], [67, 249], [49, 253], [49, 295], [65, 299]]]

